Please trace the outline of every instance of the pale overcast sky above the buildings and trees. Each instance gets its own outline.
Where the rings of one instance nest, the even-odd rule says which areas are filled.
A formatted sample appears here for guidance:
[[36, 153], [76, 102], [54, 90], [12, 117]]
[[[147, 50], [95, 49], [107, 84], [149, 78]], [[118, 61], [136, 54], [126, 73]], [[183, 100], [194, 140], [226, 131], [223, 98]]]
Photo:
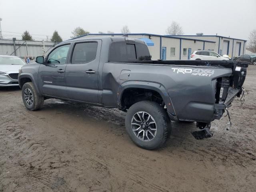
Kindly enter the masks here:
[[164, 35], [176, 21], [184, 34], [248, 40], [256, 29], [255, 8], [256, 0], [0, 0], [0, 18], [9, 38], [25, 30], [46, 38], [57, 30], [66, 40], [77, 26], [90, 33], [120, 33], [124, 25], [132, 33]]

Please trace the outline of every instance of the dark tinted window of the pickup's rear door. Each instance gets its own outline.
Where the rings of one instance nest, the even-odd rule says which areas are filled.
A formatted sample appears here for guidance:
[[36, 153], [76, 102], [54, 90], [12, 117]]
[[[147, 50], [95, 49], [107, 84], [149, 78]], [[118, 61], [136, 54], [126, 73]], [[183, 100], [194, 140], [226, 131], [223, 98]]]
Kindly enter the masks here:
[[96, 58], [97, 42], [77, 43], [74, 47], [71, 63], [87, 63]]

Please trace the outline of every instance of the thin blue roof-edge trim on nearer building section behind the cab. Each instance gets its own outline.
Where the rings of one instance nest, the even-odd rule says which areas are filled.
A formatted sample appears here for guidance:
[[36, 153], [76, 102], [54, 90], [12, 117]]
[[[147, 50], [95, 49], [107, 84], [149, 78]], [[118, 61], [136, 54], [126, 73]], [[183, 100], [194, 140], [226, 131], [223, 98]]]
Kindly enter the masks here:
[[[108, 33], [105, 33], [105, 34], [89, 33], [89, 34], [82, 35], [82, 36], [79, 36], [76, 38], [80, 38], [80, 37], [87, 36], [87, 35], [98, 35], [98, 36], [109, 35], [109, 36], [112, 36], [112, 35], [123, 35], [123, 33], [109, 33], [109, 34]], [[184, 39], [184, 40], [191, 40], [191, 41], [202, 41], [202, 42], [216, 43], [215, 41], [189, 39], [189, 38], [182, 38], [182, 37], [175, 37], [175, 36], [168, 36], [168, 35], [156, 35], [156, 34], [148, 34], [148, 33], [128, 33], [128, 36], [129, 35], [148, 35], [148, 36], [156, 36], [156, 37], [166, 37], [166, 38], [174, 38], [174, 39]], [[72, 39], [76, 39], [76, 38], [72, 38]], [[72, 40], [72, 39], [69, 39], [69, 40]]]

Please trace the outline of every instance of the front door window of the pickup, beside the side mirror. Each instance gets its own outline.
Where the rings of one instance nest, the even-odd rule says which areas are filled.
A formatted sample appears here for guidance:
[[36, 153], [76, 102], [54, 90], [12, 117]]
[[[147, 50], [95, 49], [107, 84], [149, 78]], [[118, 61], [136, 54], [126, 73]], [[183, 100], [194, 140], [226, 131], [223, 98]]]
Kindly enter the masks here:
[[49, 64], [64, 64], [68, 56], [69, 45], [63, 45], [54, 49], [48, 56], [47, 63]]

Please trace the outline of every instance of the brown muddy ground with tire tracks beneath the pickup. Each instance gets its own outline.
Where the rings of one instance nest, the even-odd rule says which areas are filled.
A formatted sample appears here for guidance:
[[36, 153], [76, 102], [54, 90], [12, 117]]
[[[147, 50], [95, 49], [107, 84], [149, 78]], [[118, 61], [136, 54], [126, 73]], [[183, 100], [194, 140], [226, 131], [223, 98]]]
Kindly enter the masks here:
[[0, 89], [0, 192], [255, 192], [256, 66], [249, 66], [246, 101], [196, 140], [195, 124], [172, 122], [159, 150], [135, 146], [125, 114], [46, 100], [30, 112], [19, 88]]

